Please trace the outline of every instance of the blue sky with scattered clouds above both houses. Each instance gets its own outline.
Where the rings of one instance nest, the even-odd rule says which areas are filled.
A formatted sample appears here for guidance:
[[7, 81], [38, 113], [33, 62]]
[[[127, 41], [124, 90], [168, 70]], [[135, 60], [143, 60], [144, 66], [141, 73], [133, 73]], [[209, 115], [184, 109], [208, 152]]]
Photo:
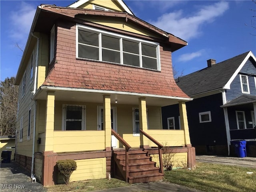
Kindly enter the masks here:
[[[37, 6], [68, 6], [75, 1], [0, 0], [1, 81], [16, 76]], [[256, 56], [256, 29], [251, 24], [256, 3], [251, 0], [124, 2], [138, 18], [188, 42], [172, 53], [178, 75], [205, 68], [208, 59], [218, 63], [249, 50]]]

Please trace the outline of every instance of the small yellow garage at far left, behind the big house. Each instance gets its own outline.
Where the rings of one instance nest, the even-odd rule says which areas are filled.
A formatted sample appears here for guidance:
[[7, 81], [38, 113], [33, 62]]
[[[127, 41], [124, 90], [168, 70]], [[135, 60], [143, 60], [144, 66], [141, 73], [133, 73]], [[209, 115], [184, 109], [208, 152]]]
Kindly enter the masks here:
[[11, 160], [14, 160], [15, 136], [0, 136], [0, 154], [2, 151], [11, 151]]

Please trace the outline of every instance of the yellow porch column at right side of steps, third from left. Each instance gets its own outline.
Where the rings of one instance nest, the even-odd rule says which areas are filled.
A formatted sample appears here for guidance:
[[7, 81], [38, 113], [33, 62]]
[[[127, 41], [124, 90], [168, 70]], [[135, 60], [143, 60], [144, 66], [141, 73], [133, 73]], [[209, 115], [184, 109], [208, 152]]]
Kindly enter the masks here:
[[[146, 108], [146, 98], [139, 98], [139, 119], [140, 119], [140, 129], [142, 131], [147, 131], [148, 122], [147, 122], [147, 108]], [[143, 142], [143, 134], [140, 134], [140, 148], [145, 148]]]

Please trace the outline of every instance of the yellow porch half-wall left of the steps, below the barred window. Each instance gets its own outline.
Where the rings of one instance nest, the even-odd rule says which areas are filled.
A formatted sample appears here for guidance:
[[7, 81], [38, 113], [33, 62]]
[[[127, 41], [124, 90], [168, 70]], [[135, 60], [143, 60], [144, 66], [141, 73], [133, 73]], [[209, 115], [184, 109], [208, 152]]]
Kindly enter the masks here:
[[104, 131], [54, 131], [54, 152], [105, 149]]

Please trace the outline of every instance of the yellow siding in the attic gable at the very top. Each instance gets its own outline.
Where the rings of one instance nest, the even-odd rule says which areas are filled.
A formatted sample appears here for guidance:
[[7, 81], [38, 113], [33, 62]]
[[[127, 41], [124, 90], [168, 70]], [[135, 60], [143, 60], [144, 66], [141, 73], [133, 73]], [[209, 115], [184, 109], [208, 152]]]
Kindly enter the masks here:
[[93, 4], [113, 10], [113, 11], [117, 11], [117, 12], [125, 11], [115, 1], [111, 1], [111, 0], [92, 0], [92, 1], [86, 2], [85, 4], [79, 6], [78, 8], [92, 9]]

